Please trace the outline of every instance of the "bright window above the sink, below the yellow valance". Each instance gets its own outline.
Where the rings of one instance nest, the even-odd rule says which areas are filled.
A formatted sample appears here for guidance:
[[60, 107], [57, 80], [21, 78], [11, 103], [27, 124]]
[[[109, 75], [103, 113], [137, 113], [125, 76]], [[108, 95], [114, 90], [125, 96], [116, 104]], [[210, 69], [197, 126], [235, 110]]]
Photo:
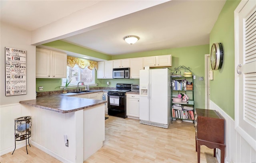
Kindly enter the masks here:
[[[92, 85], [95, 84], [95, 69], [80, 69], [78, 65], [75, 65], [74, 68], [67, 66], [67, 79], [70, 82], [70, 85], [77, 85], [78, 82], [82, 81], [84, 84]], [[66, 84], [66, 79], [62, 79], [62, 85]]]

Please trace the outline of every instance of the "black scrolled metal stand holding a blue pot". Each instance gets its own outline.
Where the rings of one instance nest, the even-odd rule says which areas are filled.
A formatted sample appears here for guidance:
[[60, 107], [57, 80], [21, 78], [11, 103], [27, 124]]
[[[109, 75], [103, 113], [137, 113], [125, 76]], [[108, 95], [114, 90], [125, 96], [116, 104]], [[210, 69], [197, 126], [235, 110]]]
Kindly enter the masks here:
[[[31, 116], [24, 116], [24, 117], [19, 117], [14, 119], [15, 148], [12, 154], [16, 149], [16, 141], [28, 139], [28, 145], [30, 146], [29, 137], [31, 137], [31, 125], [32, 125]], [[26, 150], [28, 154], [27, 140], [26, 140]]]

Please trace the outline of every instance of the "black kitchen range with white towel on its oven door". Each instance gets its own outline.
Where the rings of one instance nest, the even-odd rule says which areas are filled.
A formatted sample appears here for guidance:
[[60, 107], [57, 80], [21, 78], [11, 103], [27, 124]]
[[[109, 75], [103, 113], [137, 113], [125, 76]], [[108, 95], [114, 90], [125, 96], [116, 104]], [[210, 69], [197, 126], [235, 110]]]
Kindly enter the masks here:
[[126, 92], [131, 89], [132, 84], [116, 84], [115, 90], [108, 91], [108, 115], [127, 118]]

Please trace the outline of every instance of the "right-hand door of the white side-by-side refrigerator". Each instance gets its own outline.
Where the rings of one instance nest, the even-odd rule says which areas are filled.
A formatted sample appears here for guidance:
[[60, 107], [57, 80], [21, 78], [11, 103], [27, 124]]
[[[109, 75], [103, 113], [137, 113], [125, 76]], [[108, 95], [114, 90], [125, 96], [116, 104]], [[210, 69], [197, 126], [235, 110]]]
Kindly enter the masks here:
[[168, 124], [168, 69], [150, 73], [150, 122]]

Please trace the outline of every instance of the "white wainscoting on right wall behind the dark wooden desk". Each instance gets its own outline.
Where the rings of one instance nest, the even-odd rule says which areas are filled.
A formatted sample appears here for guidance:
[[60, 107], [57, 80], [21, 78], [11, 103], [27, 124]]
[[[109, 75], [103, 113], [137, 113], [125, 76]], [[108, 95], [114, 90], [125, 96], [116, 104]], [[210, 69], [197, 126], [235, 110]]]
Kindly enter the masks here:
[[[211, 100], [210, 109], [217, 110], [225, 118], [225, 163], [255, 163], [256, 151], [236, 132], [234, 120]], [[220, 162], [220, 150], [216, 157]]]

